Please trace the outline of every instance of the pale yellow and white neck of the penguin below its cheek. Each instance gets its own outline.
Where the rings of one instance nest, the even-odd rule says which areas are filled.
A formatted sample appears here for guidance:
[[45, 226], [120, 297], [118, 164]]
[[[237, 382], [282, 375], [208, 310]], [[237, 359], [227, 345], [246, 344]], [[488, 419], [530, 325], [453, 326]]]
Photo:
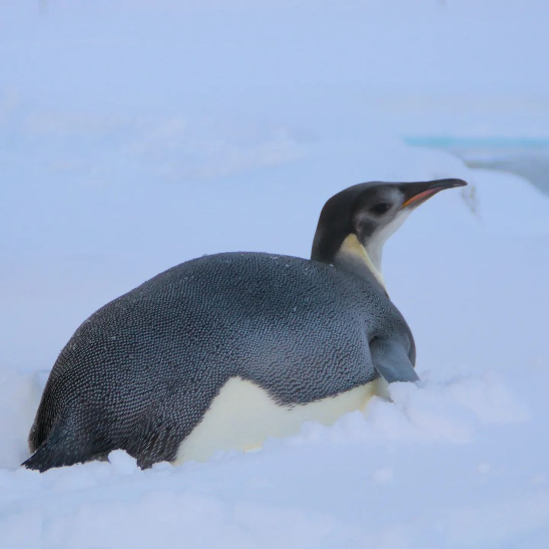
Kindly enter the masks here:
[[341, 270], [351, 271], [363, 277], [373, 277], [387, 293], [381, 272], [381, 257], [381, 247], [367, 249], [360, 243], [356, 234], [351, 233], [341, 243], [334, 256], [333, 265]]

